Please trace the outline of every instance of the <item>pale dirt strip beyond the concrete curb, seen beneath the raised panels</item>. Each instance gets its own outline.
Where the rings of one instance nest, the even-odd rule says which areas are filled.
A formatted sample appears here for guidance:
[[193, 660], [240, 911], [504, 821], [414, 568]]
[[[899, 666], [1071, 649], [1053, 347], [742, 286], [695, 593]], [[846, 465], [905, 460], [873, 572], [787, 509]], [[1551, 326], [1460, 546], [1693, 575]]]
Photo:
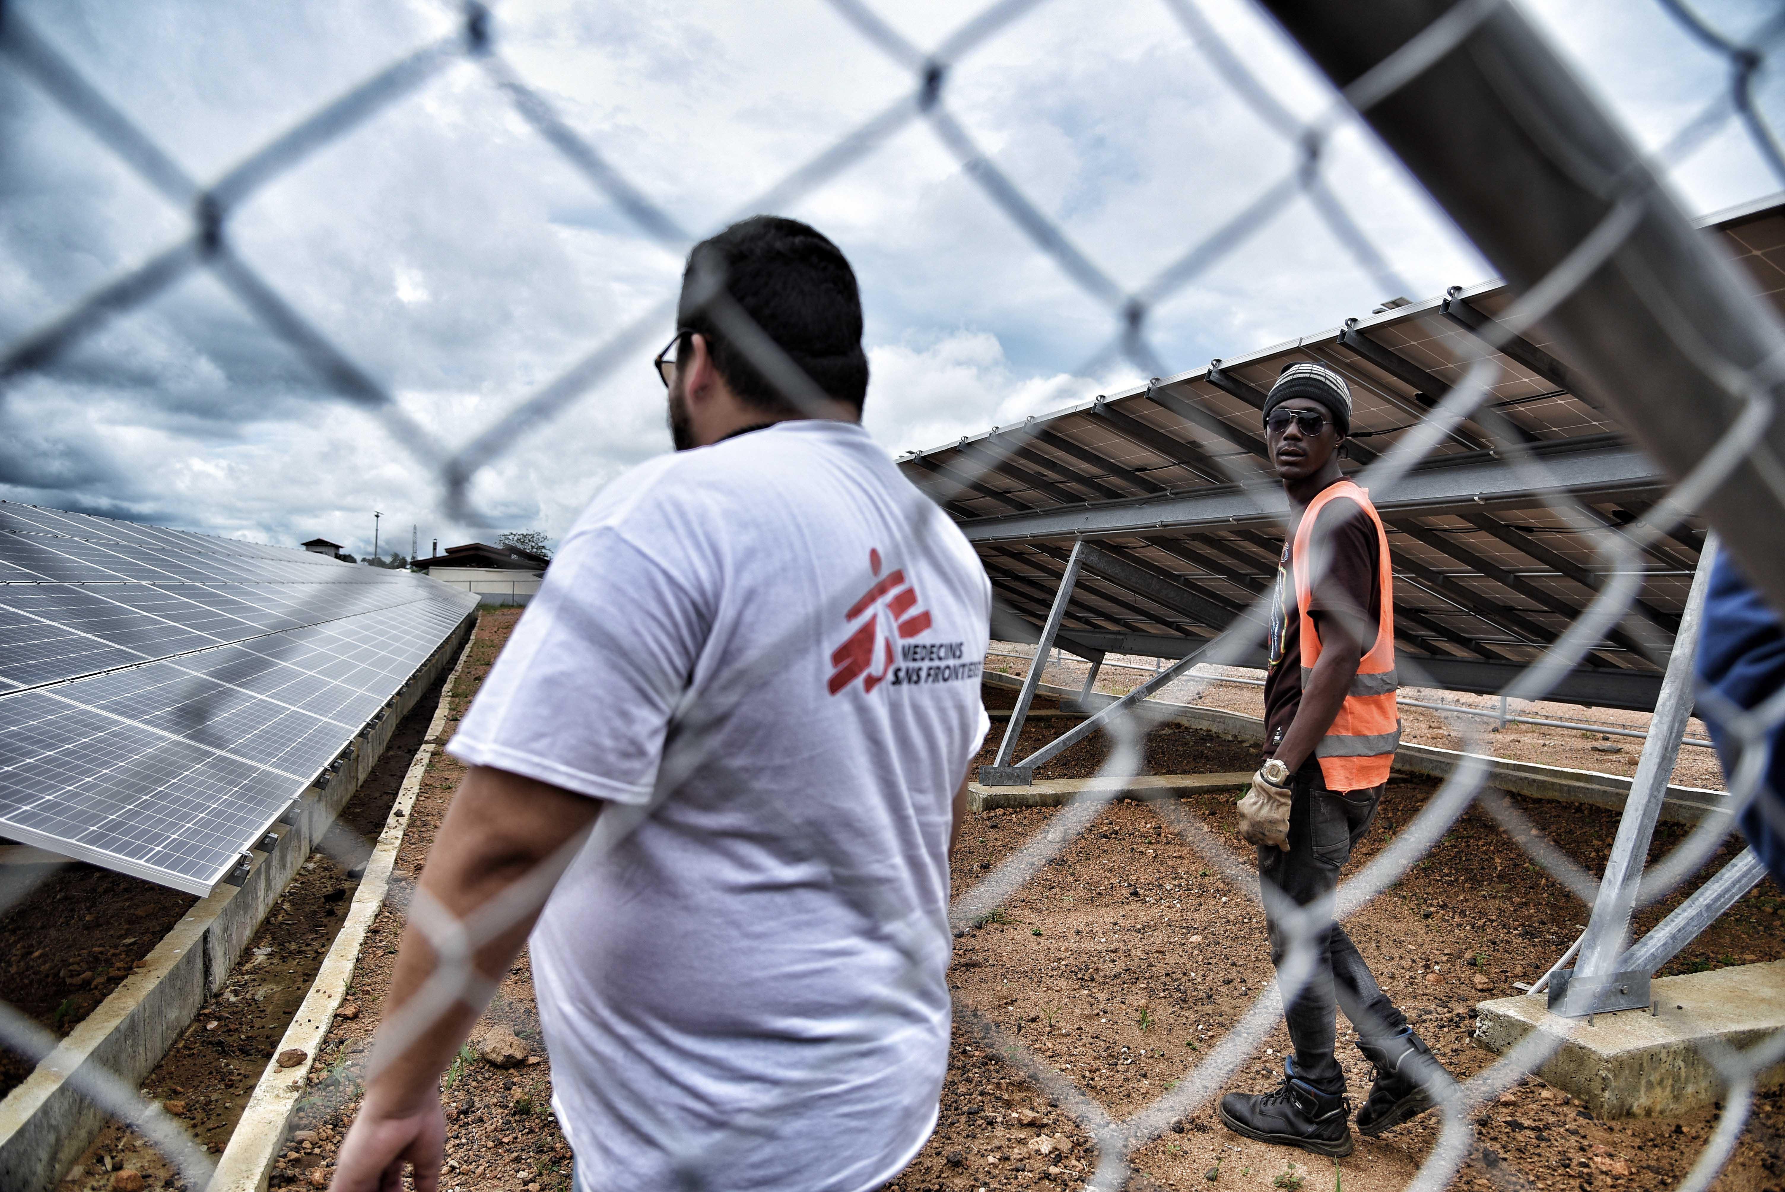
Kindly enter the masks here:
[[[985, 658], [987, 671], [1021, 676], [1028, 671], [1034, 646], [1014, 642], [992, 642], [992, 655]], [[1103, 662], [1098, 673], [1096, 691], [1121, 696], [1153, 676], [1153, 658], [1130, 658], [1116, 655]], [[1042, 673], [1042, 682], [1059, 683], [1078, 691], [1085, 685], [1087, 664], [1073, 655], [1060, 653], [1059, 662], [1050, 660]], [[1221, 682], [1228, 678], [1230, 682]], [[1264, 671], [1244, 667], [1192, 667], [1192, 675], [1180, 676], [1158, 692], [1158, 699], [1167, 703], [1192, 703], [1203, 708], [1221, 708], [1244, 716], [1264, 716], [1264, 689], [1232, 680], [1260, 680]], [[1403, 699], [1421, 699], [1424, 703], [1451, 703], [1490, 712], [1498, 707], [1494, 696], [1471, 696], [1455, 691], [1426, 691], [1423, 687], [1403, 687]], [[1583, 708], [1574, 703], [1551, 701], [1510, 701], [1514, 716], [1528, 716], [1548, 721], [1578, 721], [1605, 724], [1606, 728], [1648, 732], [1648, 712], [1626, 712], [1621, 708]], [[1639, 737], [1619, 737], [1603, 732], [1583, 732], [1574, 728], [1551, 728], [1546, 724], [1507, 724], [1494, 728], [1494, 721], [1476, 716], [1433, 712], [1430, 708], [1401, 707], [1403, 741], [1410, 744], [1435, 746], [1439, 749], [1473, 749], [1490, 753], [1512, 762], [1542, 762], [1544, 766], [1564, 766], [1569, 769], [1592, 769], [1601, 774], [1619, 774], [1630, 778], [1637, 773], [1637, 758], [1642, 755]], [[1469, 735], [1476, 735], [1471, 744]], [[1687, 724], [1687, 737], [1703, 741], [1705, 723], [1692, 719]], [[1712, 749], [1683, 746], [1673, 773], [1674, 785], [1699, 787], [1705, 791], [1723, 791], [1723, 771], [1717, 767], [1717, 755]]]

